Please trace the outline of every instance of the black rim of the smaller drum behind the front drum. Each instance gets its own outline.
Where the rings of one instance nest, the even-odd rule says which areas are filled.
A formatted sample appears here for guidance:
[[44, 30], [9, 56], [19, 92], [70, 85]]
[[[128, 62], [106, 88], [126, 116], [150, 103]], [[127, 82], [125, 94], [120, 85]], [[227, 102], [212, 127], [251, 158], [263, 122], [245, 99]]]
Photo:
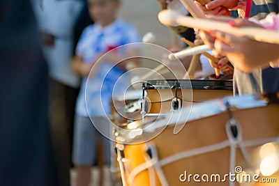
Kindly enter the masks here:
[[[164, 84], [167, 82], [167, 84]], [[182, 89], [193, 89], [193, 90], [226, 90], [232, 91], [233, 84], [232, 80], [218, 80], [218, 79], [152, 79], [144, 83], [144, 90], [153, 89], [173, 89], [176, 86], [176, 82], [180, 83]], [[190, 82], [183, 84], [183, 82]]]

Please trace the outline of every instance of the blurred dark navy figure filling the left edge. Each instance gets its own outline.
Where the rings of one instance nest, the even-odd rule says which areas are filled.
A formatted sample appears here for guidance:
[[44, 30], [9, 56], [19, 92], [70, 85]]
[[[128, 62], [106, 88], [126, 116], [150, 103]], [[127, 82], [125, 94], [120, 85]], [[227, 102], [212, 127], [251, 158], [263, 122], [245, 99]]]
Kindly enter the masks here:
[[0, 2], [0, 180], [56, 186], [47, 100], [47, 64], [30, 1]]

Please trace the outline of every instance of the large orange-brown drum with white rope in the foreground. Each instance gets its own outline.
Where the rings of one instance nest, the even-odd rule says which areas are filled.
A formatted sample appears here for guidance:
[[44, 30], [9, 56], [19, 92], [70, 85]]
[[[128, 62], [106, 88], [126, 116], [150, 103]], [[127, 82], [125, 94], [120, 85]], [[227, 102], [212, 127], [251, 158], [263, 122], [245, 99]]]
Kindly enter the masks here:
[[[124, 185], [239, 185], [228, 175], [236, 179], [255, 148], [278, 141], [278, 113], [279, 104], [246, 95], [194, 104], [154, 122], [136, 121], [141, 133], [116, 137]], [[177, 126], [183, 128], [174, 134]]]

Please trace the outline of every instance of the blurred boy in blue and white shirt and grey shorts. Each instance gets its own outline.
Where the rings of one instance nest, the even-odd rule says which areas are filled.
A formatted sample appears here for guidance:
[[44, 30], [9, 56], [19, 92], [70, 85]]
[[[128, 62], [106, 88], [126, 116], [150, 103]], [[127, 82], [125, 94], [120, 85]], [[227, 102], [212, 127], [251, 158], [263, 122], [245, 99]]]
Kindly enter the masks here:
[[[89, 0], [88, 6], [89, 14], [95, 24], [84, 29], [77, 44], [76, 56], [73, 61], [74, 72], [83, 77], [81, 91], [77, 99], [73, 146], [73, 163], [77, 173], [76, 186], [88, 186], [90, 183], [91, 166], [96, 160], [98, 150], [100, 150], [96, 148], [99, 139], [103, 141], [105, 162], [110, 163], [110, 140], [106, 138], [110, 134], [110, 123], [107, 121], [106, 114], [110, 114], [110, 100], [114, 84], [126, 72], [125, 64], [114, 66], [116, 62], [120, 62], [117, 59], [120, 59], [119, 55], [121, 54], [117, 49], [114, 50], [111, 59], [101, 63], [96, 63], [96, 61], [111, 49], [141, 41], [134, 26], [117, 19], [116, 13], [121, 6], [120, 0]], [[134, 56], [135, 54], [137, 54], [137, 49], [134, 47], [124, 52], [125, 56]], [[93, 65], [95, 66], [89, 76]], [[107, 72], [109, 73], [105, 77]], [[89, 83], [86, 86], [88, 76]], [[126, 81], [128, 83], [129, 79]], [[125, 87], [124, 84], [123, 87]], [[100, 96], [102, 102], [100, 102]], [[97, 130], [91, 123], [91, 119], [95, 126], [100, 126], [102, 131], [106, 132], [106, 136], [99, 133], [100, 128]]]

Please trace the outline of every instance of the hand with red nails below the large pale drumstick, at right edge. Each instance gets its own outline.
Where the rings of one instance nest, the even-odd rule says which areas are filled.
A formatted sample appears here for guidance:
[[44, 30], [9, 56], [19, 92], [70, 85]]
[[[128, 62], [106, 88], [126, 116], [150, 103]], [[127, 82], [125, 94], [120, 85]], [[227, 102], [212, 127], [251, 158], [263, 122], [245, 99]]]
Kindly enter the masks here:
[[[218, 18], [214, 18], [218, 19]], [[231, 20], [232, 26], [259, 26], [248, 20]], [[278, 59], [279, 45], [257, 42], [245, 37], [236, 37], [222, 31], [210, 33], [201, 31], [201, 37], [216, 53], [226, 55], [235, 68], [251, 72], [255, 68], [266, 68], [271, 61]]]

